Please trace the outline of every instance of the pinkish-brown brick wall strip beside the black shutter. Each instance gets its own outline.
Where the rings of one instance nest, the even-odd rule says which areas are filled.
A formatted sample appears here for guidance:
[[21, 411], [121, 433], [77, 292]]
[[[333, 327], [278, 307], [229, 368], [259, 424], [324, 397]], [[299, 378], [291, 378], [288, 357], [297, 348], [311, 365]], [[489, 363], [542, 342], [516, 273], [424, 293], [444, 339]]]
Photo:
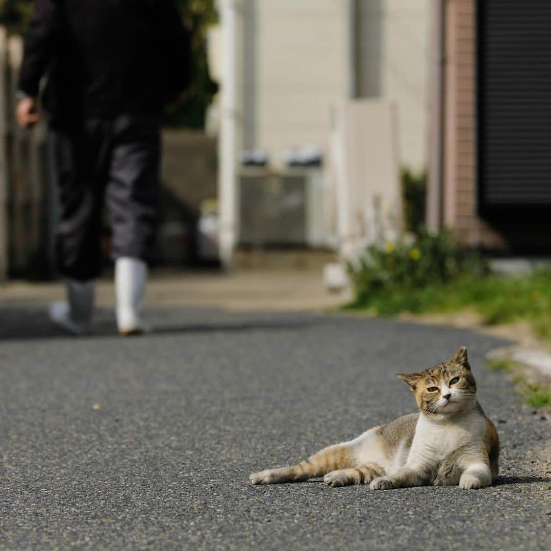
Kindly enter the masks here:
[[503, 238], [476, 214], [476, 2], [446, 12], [444, 224], [469, 246], [500, 249]]

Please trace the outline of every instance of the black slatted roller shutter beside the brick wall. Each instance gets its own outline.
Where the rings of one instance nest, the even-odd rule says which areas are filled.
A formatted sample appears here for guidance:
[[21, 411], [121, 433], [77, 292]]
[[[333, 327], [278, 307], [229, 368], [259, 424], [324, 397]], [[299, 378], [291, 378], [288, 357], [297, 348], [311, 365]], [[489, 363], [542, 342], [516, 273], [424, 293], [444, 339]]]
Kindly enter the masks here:
[[478, 204], [551, 206], [551, 0], [478, 2]]

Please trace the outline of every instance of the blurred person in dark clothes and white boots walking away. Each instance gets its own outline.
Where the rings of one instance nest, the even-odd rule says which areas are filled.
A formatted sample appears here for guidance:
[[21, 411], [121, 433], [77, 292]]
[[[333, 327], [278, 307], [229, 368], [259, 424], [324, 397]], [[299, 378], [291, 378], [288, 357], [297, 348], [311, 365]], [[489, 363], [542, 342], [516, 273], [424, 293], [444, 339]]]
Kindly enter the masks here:
[[18, 84], [23, 128], [39, 122], [45, 75], [61, 202], [57, 268], [68, 296], [51, 305], [50, 316], [74, 334], [90, 326], [106, 201], [118, 329], [142, 333], [158, 211], [160, 116], [190, 81], [190, 36], [173, 0], [36, 0]]

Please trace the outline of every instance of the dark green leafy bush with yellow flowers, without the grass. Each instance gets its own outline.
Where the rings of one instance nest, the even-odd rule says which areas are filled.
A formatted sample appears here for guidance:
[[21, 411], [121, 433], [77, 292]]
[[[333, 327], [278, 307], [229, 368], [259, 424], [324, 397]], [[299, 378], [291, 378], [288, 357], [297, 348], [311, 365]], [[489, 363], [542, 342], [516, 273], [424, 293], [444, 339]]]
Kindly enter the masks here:
[[372, 245], [366, 255], [350, 264], [356, 304], [369, 302], [374, 293], [399, 295], [404, 290], [444, 284], [467, 275], [482, 276], [487, 264], [476, 254], [457, 246], [447, 231], [430, 235], [424, 228], [411, 245], [405, 241]]

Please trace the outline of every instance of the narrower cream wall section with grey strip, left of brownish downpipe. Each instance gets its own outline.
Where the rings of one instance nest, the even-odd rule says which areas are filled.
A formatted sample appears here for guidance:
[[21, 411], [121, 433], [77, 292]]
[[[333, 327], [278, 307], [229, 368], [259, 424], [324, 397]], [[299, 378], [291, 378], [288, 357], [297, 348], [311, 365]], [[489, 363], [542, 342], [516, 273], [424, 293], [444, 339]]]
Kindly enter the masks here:
[[402, 164], [426, 164], [431, 0], [359, 0], [358, 93], [396, 101]]

